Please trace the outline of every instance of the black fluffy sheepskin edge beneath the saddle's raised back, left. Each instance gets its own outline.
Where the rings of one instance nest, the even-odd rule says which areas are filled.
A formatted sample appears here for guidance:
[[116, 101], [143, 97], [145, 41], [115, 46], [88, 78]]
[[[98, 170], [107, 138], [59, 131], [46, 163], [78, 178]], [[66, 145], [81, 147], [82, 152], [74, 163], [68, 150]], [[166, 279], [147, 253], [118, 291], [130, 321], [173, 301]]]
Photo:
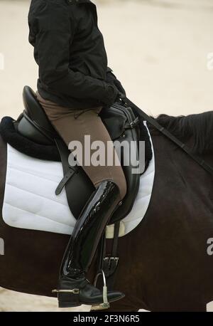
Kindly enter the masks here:
[[20, 135], [13, 124], [11, 117], [4, 117], [0, 124], [0, 134], [4, 142], [10, 144], [18, 152], [36, 159], [60, 162], [60, 154], [56, 146], [36, 144]]

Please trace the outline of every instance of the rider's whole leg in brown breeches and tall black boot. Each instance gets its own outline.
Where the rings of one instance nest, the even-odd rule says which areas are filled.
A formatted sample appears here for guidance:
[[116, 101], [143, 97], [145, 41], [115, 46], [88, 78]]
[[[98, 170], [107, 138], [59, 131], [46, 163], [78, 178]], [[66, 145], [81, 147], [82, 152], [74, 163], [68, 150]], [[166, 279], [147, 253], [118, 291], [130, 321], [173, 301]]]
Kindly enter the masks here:
[[[54, 103], [49, 101], [40, 100], [40, 103], [67, 144], [71, 140], [78, 140], [84, 147], [84, 135], [90, 135], [91, 142], [94, 140], [101, 140], [104, 144], [111, 142], [98, 116], [100, 108], [85, 111], [70, 110], [54, 106]], [[60, 307], [70, 307], [80, 303], [94, 305], [103, 302], [102, 293], [88, 283], [85, 274], [111, 214], [126, 194], [126, 180], [120, 165], [111, 167], [83, 165], [82, 167], [92, 179], [96, 190], [77, 220], [62, 260], [58, 285]], [[70, 293], [70, 290], [75, 289], [77, 289], [76, 294]], [[119, 300], [123, 296], [122, 293], [111, 291], [108, 293], [108, 300]]]

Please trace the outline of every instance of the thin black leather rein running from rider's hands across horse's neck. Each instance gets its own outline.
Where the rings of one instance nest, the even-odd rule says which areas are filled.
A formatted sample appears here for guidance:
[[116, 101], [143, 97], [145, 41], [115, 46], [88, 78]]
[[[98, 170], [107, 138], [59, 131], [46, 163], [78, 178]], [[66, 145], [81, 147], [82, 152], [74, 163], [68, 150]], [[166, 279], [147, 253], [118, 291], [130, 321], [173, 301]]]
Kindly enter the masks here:
[[210, 166], [207, 162], [204, 161], [204, 159], [201, 159], [197, 155], [193, 154], [190, 147], [188, 147], [186, 144], [178, 140], [175, 136], [173, 136], [168, 130], [166, 130], [163, 126], [161, 126], [153, 117], [150, 117], [145, 112], [143, 112], [139, 107], [137, 107], [131, 100], [128, 98], [122, 98], [122, 101], [124, 101], [125, 105], [128, 105], [130, 107], [135, 107], [136, 110], [140, 110], [141, 117], [143, 117], [144, 120], [146, 120], [150, 125], [155, 127], [159, 132], [161, 132], [165, 137], [168, 137], [172, 142], [178, 145], [185, 153], [187, 153], [192, 159], [194, 159], [197, 164], [199, 164], [204, 170], [209, 172], [213, 176], [213, 167]]

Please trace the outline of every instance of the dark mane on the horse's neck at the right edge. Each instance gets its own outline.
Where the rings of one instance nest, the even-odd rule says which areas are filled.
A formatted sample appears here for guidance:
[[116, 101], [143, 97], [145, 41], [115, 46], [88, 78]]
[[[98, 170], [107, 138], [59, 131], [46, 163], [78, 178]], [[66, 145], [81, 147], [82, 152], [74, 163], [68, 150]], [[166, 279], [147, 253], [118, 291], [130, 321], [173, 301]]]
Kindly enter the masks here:
[[156, 120], [180, 140], [192, 139], [193, 152], [213, 152], [213, 111], [179, 117], [159, 115]]

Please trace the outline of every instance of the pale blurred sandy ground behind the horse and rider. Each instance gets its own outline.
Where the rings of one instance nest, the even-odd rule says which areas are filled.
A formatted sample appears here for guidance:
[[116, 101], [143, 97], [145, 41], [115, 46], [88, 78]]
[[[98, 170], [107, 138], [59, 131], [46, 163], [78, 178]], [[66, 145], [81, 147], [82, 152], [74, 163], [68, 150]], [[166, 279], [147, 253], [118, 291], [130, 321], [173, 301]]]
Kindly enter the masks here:
[[[212, 110], [212, 0], [95, 2], [109, 66], [133, 102], [154, 116]], [[16, 118], [23, 110], [23, 86], [36, 87], [29, 3], [0, 0], [0, 118]], [[41, 310], [57, 311], [56, 300], [0, 289], [0, 311]]]

